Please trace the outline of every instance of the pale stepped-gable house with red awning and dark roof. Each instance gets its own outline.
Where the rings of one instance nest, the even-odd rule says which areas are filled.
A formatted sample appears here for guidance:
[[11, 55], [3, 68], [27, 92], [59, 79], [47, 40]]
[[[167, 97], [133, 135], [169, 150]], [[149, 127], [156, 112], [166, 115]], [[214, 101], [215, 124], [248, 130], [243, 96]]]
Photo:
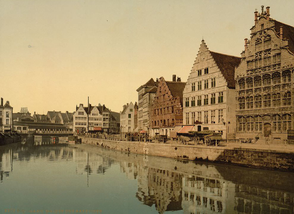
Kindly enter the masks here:
[[202, 40], [183, 92], [183, 124], [190, 125], [185, 130], [234, 138], [234, 69], [239, 63], [240, 57], [210, 51]]

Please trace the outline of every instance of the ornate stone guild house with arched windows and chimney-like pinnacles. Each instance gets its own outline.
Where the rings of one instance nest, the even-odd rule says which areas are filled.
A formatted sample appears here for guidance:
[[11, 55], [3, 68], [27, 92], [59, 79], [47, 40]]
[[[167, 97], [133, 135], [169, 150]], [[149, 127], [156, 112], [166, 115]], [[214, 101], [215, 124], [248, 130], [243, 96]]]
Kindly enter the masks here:
[[282, 142], [293, 129], [294, 27], [263, 6], [254, 21], [235, 70], [236, 138]]

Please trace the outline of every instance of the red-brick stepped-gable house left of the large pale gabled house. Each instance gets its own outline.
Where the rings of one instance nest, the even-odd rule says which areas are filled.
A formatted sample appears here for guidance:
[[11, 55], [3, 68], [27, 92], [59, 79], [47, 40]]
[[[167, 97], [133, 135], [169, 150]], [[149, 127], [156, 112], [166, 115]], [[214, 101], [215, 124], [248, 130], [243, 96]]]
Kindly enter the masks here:
[[159, 78], [153, 104], [149, 108], [149, 135], [155, 133], [170, 136], [175, 125], [182, 125], [183, 120], [183, 90], [186, 82], [181, 82], [176, 75], [173, 81]]

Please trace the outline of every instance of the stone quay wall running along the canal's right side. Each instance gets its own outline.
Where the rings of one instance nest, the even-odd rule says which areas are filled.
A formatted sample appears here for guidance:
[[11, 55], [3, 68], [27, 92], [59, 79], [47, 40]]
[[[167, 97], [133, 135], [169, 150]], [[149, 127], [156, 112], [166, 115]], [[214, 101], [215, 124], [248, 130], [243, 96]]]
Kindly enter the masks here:
[[[251, 168], [294, 171], [294, 152], [285, 149], [237, 148], [226, 146], [171, 145], [164, 143], [130, 142], [84, 138], [82, 143], [117, 151], [170, 157], [184, 160], [208, 161]], [[264, 146], [262, 146], [264, 147]]]

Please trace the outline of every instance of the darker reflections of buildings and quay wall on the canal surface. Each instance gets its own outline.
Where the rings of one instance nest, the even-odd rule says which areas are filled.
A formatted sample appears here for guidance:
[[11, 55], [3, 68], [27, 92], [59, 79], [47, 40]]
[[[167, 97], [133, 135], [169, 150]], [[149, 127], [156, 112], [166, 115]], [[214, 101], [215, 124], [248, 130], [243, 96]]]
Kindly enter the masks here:
[[[33, 149], [31, 149], [33, 148]], [[1, 148], [0, 148], [1, 149]], [[117, 164], [127, 179], [137, 179], [134, 195], [158, 213], [293, 214], [294, 174], [230, 165], [148, 157], [87, 145], [31, 143], [0, 150], [0, 175], [9, 176], [13, 160], [71, 160], [77, 174], [105, 174]], [[159, 164], [160, 163], [160, 164]], [[176, 167], [175, 167], [176, 165]]]

